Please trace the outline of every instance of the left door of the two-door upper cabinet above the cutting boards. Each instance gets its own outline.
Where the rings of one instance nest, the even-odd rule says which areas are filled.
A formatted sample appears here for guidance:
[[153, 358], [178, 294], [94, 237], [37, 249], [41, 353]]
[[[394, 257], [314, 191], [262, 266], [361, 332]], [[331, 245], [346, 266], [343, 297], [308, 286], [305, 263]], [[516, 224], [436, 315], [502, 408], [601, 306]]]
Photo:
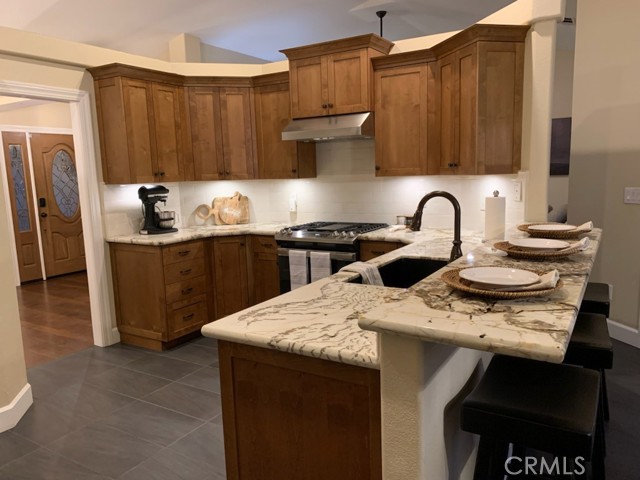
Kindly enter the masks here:
[[195, 179], [224, 178], [220, 95], [217, 87], [189, 88], [189, 117]]

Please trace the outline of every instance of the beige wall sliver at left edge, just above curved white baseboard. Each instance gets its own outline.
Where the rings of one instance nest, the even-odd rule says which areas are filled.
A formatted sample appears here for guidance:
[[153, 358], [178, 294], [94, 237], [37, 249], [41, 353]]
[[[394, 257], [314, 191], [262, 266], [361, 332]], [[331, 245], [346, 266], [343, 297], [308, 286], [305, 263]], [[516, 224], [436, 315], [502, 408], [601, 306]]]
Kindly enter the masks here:
[[[13, 270], [4, 185], [0, 182], [0, 271]], [[20, 332], [20, 314], [13, 275], [0, 275], [0, 411], [15, 400], [27, 384]]]

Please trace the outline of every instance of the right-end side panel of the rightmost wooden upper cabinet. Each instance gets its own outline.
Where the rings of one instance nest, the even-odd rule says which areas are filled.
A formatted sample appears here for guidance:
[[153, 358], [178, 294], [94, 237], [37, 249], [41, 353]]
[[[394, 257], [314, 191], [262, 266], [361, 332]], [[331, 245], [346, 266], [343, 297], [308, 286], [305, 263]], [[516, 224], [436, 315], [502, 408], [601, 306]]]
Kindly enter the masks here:
[[477, 173], [517, 173], [522, 138], [523, 45], [478, 46]]

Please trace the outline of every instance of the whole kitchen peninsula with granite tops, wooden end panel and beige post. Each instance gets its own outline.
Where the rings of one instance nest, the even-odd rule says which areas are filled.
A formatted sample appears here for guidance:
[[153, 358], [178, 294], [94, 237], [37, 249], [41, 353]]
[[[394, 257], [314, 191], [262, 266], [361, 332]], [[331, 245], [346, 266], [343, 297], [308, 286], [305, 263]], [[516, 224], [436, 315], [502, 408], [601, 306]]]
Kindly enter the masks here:
[[[449, 255], [450, 231], [390, 230], [363, 239], [410, 244], [370, 263]], [[459, 402], [491, 353], [562, 361], [600, 234], [589, 233], [583, 252], [544, 263], [463, 234], [464, 256], [411, 288], [353, 284], [356, 274], [342, 272], [205, 325], [221, 340], [229, 478], [259, 468], [261, 478], [291, 468], [321, 478], [326, 464], [338, 468], [324, 478], [471, 478], [475, 443], [458, 427]], [[485, 301], [439, 279], [472, 265], [555, 268], [563, 284], [545, 297]], [[332, 446], [331, 435], [350, 443]], [[309, 448], [318, 438], [324, 448]]]

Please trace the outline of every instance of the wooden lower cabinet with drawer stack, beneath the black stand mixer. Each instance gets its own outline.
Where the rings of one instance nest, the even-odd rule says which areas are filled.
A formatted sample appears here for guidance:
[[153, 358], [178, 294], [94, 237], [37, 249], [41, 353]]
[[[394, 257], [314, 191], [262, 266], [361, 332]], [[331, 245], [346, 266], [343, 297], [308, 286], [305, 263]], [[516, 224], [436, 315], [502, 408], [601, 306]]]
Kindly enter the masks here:
[[122, 343], [164, 350], [209, 322], [202, 241], [110, 244]]

